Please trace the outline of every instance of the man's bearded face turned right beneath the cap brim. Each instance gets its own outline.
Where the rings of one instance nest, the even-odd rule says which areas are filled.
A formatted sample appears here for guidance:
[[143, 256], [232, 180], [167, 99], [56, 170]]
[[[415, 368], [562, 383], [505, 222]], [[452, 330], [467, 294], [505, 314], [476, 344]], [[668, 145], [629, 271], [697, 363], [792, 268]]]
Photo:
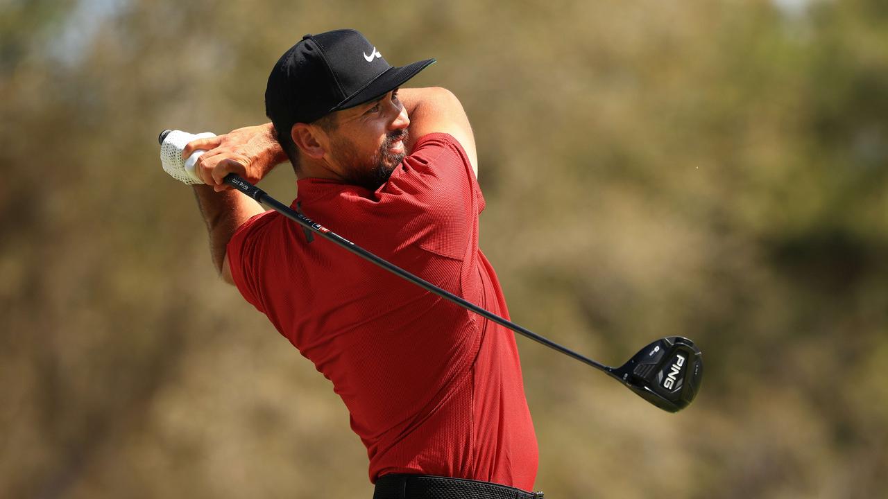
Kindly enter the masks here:
[[381, 99], [339, 111], [328, 131], [331, 169], [349, 183], [371, 191], [385, 184], [407, 155], [407, 110], [390, 91]]

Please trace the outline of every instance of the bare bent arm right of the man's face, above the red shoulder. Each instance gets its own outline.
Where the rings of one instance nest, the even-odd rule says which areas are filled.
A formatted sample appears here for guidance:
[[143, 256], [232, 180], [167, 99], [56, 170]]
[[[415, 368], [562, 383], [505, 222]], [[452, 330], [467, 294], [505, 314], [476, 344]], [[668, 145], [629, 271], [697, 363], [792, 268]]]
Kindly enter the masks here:
[[478, 153], [472, 125], [463, 105], [451, 91], [440, 87], [400, 89], [398, 99], [410, 118], [410, 137], [407, 150], [412, 152], [416, 140], [433, 132], [449, 133], [463, 146], [478, 177]]

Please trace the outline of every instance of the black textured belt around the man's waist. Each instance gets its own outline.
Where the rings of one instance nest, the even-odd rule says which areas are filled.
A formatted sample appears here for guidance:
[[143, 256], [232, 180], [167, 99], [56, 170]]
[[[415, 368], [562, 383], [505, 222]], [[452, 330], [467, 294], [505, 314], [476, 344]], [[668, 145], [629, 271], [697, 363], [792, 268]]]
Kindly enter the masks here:
[[373, 499], [543, 499], [543, 493], [526, 492], [488, 481], [385, 475], [377, 479]]

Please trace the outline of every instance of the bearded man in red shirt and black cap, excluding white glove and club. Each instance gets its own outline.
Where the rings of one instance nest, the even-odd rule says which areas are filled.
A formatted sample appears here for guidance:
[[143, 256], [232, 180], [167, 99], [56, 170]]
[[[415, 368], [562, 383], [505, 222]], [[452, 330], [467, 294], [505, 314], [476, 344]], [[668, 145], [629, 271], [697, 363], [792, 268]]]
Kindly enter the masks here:
[[511, 331], [222, 183], [231, 172], [257, 182], [289, 159], [295, 210], [508, 317], [478, 248], [484, 198], [463, 107], [444, 89], [400, 89], [432, 62], [391, 67], [353, 30], [305, 36], [268, 78], [272, 123], [184, 154], [209, 150], [195, 192], [220, 275], [333, 383], [377, 499], [532, 497], [536, 439]]

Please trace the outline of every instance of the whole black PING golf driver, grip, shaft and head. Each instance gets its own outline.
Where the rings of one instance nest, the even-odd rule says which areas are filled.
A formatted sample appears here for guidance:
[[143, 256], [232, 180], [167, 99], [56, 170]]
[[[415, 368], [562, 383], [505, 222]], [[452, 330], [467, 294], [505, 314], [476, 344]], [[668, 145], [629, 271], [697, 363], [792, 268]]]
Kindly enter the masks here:
[[[170, 130], [165, 130], [160, 134], [158, 141], [162, 146], [164, 139], [167, 138], [170, 132]], [[176, 175], [171, 172], [170, 175], [176, 177]], [[694, 400], [694, 397], [700, 390], [700, 383], [703, 376], [702, 353], [700, 352], [700, 349], [694, 345], [694, 342], [686, 337], [664, 337], [658, 339], [654, 341], [654, 343], [641, 349], [621, 367], [611, 368], [545, 337], [541, 337], [533, 331], [525, 329], [514, 322], [503, 319], [503, 317], [500, 317], [495, 313], [490, 313], [480, 306], [466, 301], [462, 297], [457, 297], [453, 293], [440, 289], [431, 282], [424, 281], [424, 279], [419, 278], [412, 273], [408, 273], [397, 265], [392, 265], [383, 258], [377, 257], [368, 250], [348, 241], [341, 235], [330, 232], [329, 229], [314, 222], [312, 219], [297, 213], [295, 210], [291, 210], [289, 206], [278, 202], [273, 197], [266, 194], [262, 189], [250, 184], [250, 182], [247, 182], [234, 173], [230, 173], [226, 176], [225, 183], [229, 186], [233, 186], [243, 194], [247, 194], [257, 202], [265, 204], [284, 217], [293, 220], [305, 229], [312, 231], [313, 234], [317, 234], [329, 242], [333, 242], [337, 244], [337, 246], [369, 260], [371, 263], [416, 284], [416, 286], [419, 286], [426, 291], [477, 313], [489, 321], [494, 321], [504, 328], [511, 329], [521, 336], [528, 337], [537, 343], [546, 345], [551, 349], [564, 353], [569, 357], [573, 357], [584, 364], [588, 364], [593, 368], [604, 371], [620, 383], [624, 384], [632, 392], [637, 393], [638, 396], [654, 404], [654, 406], [658, 408], [662, 408], [669, 412], [678, 412], [679, 410], [686, 408]]]

